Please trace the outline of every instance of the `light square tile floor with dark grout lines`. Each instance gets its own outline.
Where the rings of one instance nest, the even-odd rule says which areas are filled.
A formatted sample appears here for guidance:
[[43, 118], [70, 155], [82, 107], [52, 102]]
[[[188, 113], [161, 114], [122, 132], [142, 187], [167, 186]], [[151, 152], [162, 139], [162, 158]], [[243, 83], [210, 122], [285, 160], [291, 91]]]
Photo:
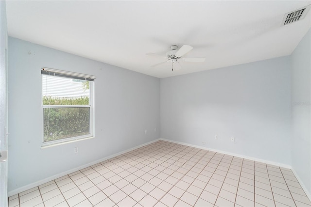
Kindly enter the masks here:
[[9, 198], [9, 207], [306, 207], [290, 169], [157, 141]]

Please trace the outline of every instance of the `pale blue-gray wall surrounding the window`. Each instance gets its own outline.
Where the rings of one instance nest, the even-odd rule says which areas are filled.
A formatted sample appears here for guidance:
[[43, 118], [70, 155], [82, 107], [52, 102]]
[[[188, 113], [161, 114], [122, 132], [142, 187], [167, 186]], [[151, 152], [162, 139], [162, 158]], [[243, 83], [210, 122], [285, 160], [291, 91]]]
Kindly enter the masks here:
[[[158, 78], [12, 37], [8, 56], [9, 191], [160, 137]], [[95, 138], [40, 149], [41, 67], [97, 76]]]

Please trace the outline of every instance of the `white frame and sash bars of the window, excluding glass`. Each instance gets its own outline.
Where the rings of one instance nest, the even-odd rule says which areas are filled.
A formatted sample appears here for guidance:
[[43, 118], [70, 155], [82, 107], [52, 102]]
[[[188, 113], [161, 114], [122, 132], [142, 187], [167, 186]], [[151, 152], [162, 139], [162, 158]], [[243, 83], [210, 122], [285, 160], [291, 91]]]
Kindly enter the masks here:
[[[50, 74], [47, 74], [49, 72]], [[63, 78], [68, 78], [68, 79], [77, 79], [77, 77], [80, 80], [87, 80], [89, 81], [89, 104], [88, 105], [43, 105], [43, 75], [52, 75], [52, 73], [55, 74], [60, 74], [58, 76], [61, 76]], [[82, 79], [83, 78], [83, 79]], [[95, 124], [94, 124], [94, 80], [95, 76], [91, 75], [86, 75], [86, 74], [81, 74], [81, 73], [73, 73], [73, 72], [68, 72], [68, 71], [63, 71], [63, 70], [57, 70], [57, 69], [49, 69], [49, 68], [41, 68], [41, 120], [42, 120], [42, 143], [41, 143], [41, 148], [46, 148], [50, 146], [55, 146], [55, 145], [60, 145], [60, 144], [66, 144], [74, 141], [79, 141], [79, 140], [85, 140], [89, 138], [94, 138], [95, 137]], [[81, 136], [75, 136], [75, 137], [70, 137], [70, 138], [60, 138], [56, 140], [51, 140], [51, 141], [44, 141], [44, 109], [45, 108], [89, 108], [89, 134], [87, 135], [81, 135]]]

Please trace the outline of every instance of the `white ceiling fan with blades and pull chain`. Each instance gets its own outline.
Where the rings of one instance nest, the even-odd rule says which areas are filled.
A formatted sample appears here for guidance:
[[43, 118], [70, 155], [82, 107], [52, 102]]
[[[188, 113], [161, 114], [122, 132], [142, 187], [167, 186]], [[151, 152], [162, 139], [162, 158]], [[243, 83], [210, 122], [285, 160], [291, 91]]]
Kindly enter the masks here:
[[183, 55], [185, 55], [186, 53], [190, 52], [193, 47], [189, 46], [189, 45], [183, 45], [179, 50], [177, 45], [172, 45], [170, 47], [170, 51], [166, 52], [165, 56], [163, 55], [159, 55], [159, 54], [155, 54], [155, 53], [146, 53], [146, 55], [150, 56], [150, 57], [158, 57], [158, 58], [165, 58], [167, 59], [164, 62], [155, 64], [151, 67], [156, 67], [156, 66], [160, 66], [166, 63], [172, 63], [172, 70], [174, 70], [174, 66], [175, 69], [181, 69], [181, 65], [178, 62], [178, 60], [183, 60], [185, 62], [195, 62], [195, 63], [203, 63], [205, 61], [205, 57], [183, 57]]

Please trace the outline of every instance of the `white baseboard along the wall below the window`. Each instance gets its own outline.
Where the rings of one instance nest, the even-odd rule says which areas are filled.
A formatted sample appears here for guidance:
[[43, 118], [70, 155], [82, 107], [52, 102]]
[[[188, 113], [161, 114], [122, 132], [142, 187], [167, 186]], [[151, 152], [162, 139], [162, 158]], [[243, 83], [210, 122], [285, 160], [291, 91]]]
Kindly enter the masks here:
[[87, 163], [87, 164], [85, 164], [85, 165], [79, 166], [79, 167], [74, 168], [74, 169], [71, 169], [71, 170], [69, 170], [69, 171], [66, 171], [66, 172], [63, 172], [63, 173], [55, 174], [55, 175], [53, 175], [53, 176], [51, 176], [51, 177], [47, 177], [47, 178], [45, 178], [45, 179], [43, 179], [43, 180], [39, 180], [39, 181], [37, 181], [37, 182], [35, 182], [35, 183], [31, 183], [31, 184], [29, 184], [29, 185], [20, 187], [20, 188], [18, 188], [18, 189], [11, 190], [11, 191], [8, 192], [8, 196], [10, 197], [10, 196], [12, 196], [12, 195], [16, 195], [17, 193], [23, 192], [23, 191], [25, 191], [25, 190], [29, 190], [29, 189], [35, 188], [35, 187], [37, 187], [37, 186], [39, 186], [39, 185], [42, 185], [42, 184], [47, 183], [47, 182], [50, 182], [50, 181], [55, 180], [55, 179], [57, 179], [57, 178], [59, 178], [59, 177], [65, 176], [65, 175], [70, 174], [70, 173], [74, 173], [74, 172], [76, 172], [76, 171], [82, 170], [82, 169], [87, 168], [87, 167], [89, 167], [89, 166], [92, 166], [92, 165], [95, 165], [95, 164], [97, 164], [97, 163], [103, 162], [103, 161], [105, 161], [105, 160], [107, 160], [107, 159], [110, 159], [110, 158], [112, 158], [112, 157], [115, 157], [115, 156], [118, 156], [118, 155], [122, 155], [122, 154], [124, 154], [124, 153], [130, 152], [130, 151], [132, 151], [132, 150], [135, 150], [135, 149], [138, 149], [138, 148], [140, 148], [140, 147], [146, 146], [146, 145], [148, 145], [148, 144], [154, 143], [154, 142], [156, 142], [156, 141], [158, 141], [158, 140], [160, 140], [160, 138], [155, 139], [155, 140], [152, 140], [152, 141], [149, 141], [149, 142], [144, 143], [144, 144], [141, 144], [141, 145], [138, 145], [138, 146], [133, 147], [133, 148], [131, 148], [131, 149], [127, 149], [127, 150], [124, 150], [124, 151], [122, 151], [122, 152], [119, 152], [119, 153], [116, 153], [116, 154], [113, 154], [113, 155], [106, 156], [106, 157], [104, 157], [104, 158], [101, 158], [101, 159], [99, 159], [99, 160], [96, 160], [96, 161]]

